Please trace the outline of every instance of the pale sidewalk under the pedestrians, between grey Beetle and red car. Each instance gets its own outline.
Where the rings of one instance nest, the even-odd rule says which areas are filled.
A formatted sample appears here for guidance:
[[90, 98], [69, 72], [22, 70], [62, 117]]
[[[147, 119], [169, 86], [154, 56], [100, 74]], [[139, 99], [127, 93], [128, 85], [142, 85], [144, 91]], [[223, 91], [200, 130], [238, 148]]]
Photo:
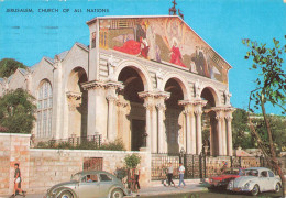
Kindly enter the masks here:
[[174, 179], [175, 187], [166, 187], [161, 182], [152, 182], [151, 187], [142, 188], [139, 193], [133, 193], [131, 196], [125, 196], [127, 198], [136, 197], [136, 196], [163, 196], [172, 194], [186, 194], [195, 191], [205, 191], [207, 190], [206, 185], [200, 183], [200, 179], [186, 179], [186, 186], [183, 188], [178, 187], [178, 179]]

